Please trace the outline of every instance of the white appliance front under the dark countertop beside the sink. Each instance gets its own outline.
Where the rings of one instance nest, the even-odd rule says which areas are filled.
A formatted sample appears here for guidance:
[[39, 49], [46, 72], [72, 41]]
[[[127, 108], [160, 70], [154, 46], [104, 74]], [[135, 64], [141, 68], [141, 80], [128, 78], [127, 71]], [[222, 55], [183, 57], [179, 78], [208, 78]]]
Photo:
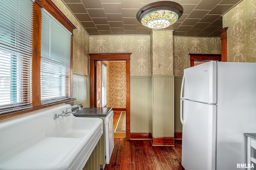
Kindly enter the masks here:
[[114, 149], [114, 111], [111, 110], [104, 120], [105, 124], [105, 147], [106, 147], [106, 164], [109, 164]]

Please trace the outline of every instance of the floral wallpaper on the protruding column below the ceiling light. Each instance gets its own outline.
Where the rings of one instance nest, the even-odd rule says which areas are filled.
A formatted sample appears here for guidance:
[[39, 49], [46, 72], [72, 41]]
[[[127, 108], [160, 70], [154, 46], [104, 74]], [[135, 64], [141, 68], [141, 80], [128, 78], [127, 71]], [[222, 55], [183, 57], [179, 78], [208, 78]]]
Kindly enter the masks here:
[[172, 31], [152, 31], [152, 75], [173, 75]]

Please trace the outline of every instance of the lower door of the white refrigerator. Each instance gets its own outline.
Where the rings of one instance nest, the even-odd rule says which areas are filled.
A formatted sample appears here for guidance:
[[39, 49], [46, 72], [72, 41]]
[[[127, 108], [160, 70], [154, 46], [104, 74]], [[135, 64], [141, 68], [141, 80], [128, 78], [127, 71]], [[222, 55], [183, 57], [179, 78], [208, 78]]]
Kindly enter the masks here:
[[182, 166], [215, 170], [216, 105], [184, 100]]

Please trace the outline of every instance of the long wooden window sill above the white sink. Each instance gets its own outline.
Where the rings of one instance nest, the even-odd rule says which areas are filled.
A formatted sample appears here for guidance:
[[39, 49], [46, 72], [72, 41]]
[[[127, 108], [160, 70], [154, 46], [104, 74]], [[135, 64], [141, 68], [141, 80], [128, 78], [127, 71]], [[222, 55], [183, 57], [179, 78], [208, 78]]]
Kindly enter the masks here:
[[74, 105], [75, 100], [76, 99], [74, 99], [74, 98], [73, 99], [67, 99], [67, 100], [62, 100], [61, 102], [45, 104], [45, 105], [36, 106], [36, 107], [32, 107], [32, 108], [24, 109], [24, 110], [20, 110], [20, 111], [3, 113], [3, 114], [0, 115], [0, 122], [10, 120], [10, 119], [14, 119], [14, 118], [17, 118], [17, 117], [21, 117], [21, 116], [24, 116], [24, 115], [28, 115], [28, 114], [31, 114], [31, 113], [35, 113], [36, 111], [40, 111], [40, 110], [43, 110], [43, 109], [48, 109], [50, 107], [54, 107], [54, 106], [57, 106], [57, 105], [62, 105], [62, 104]]

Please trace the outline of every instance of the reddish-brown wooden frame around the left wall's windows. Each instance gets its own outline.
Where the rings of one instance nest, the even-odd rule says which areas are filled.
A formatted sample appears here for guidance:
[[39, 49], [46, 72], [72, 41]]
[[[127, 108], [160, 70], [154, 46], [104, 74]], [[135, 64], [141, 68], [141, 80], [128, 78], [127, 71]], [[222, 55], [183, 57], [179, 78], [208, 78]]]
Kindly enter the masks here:
[[[72, 33], [71, 35], [71, 55], [70, 55], [70, 96], [71, 99], [63, 100], [61, 102], [54, 102], [51, 104], [41, 105], [41, 91], [40, 91], [40, 64], [41, 64], [41, 10], [44, 8], [49, 12], [57, 21], [59, 21], [68, 31]], [[76, 27], [71, 21], [58, 9], [58, 7], [51, 0], [35, 0], [33, 4], [33, 26], [32, 26], [32, 108], [23, 109], [20, 111], [12, 111], [8, 113], [2, 113], [0, 115], [0, 121], [5, 121], [12, 119], [14, 117], [19, 117], [28, 112], [36, 111], [39, 109], [44, 109], [46, 107], [56, 106], [59, 104], [74, 104], [72, 98], [73, 93], [73, 29]]]

